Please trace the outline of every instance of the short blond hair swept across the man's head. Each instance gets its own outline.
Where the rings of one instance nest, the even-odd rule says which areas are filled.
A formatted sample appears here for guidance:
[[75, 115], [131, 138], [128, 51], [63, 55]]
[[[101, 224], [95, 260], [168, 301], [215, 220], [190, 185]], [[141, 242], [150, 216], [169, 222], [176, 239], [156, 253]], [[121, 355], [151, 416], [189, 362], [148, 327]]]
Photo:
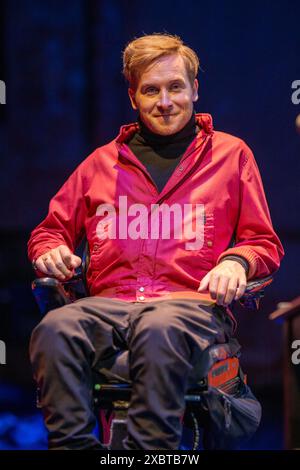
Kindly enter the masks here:
[[136, 90], [144, 70], [161, 57], [179, 54], [184, 60], [191, 86], [198, 74], [199, 59], [195, 51], [181, 38], [168, 33], [153, 33], [130, 41], [124, 51], [123, 74], [129, 86]]

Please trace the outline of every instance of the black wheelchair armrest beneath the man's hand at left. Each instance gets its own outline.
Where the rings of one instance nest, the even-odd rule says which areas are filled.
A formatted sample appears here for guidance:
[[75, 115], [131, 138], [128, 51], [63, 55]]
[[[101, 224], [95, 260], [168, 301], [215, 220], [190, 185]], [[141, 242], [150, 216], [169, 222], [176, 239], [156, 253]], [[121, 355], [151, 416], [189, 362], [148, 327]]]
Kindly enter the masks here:
[[88, 295], [81, 272], [67, 281], [58, 281], [52, 277], [35, 279], [31, 288], [42, 315]]

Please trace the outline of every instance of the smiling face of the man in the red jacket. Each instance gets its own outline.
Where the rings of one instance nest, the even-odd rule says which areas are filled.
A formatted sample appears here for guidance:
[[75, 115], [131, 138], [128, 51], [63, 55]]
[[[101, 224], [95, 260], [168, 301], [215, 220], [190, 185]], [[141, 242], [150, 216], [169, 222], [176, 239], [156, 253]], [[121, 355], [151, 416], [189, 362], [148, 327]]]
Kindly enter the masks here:
[[198, 99], [198, 80], [193, 87], [183, 58], [170, 55], [158, 59], [141, 75], [137, 90], [128, 90], [133, 109], [154, 133], [171, 135], [190, 120]]

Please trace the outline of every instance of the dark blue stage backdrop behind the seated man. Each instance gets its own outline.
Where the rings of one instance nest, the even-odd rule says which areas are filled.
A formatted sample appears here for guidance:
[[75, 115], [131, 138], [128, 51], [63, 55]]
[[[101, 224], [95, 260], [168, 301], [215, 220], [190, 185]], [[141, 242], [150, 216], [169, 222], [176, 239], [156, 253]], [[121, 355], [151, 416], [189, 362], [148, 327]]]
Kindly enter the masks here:
[[[300, 79], [297, 1], [26, 0], [0, 3], [0, 449], [43, 448], [28, 340], [40, 316], [30, 290], [30, 231], [97, 146], [135, 120], [121, 68], [128, 41], [177, 34], [199, 55], [197, 112], [253, 149], [286, 255], [259, 312], [238, 309], [249, 383], [264, 405], [249, 448], [280, 449], [282, 327], [268, 320], [299, 295], [299, 147], [291, 84]], [[252, 446], [252, 447], [251, 447]]]

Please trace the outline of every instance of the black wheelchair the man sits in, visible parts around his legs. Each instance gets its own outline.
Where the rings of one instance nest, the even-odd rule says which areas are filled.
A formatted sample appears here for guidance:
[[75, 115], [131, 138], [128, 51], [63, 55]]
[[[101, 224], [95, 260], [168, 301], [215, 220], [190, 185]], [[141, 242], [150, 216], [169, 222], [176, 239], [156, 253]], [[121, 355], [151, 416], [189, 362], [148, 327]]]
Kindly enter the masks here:
[[[48, 311], [87, 297], [86, 271], [89, 264], [88, 244], [85, 244], [81, 268], [72, 279], [58, 281], [51, 277], [35, 279], [32, 292], [42, 315]], [[258, 309], [265, 288], [273, 281], [272, 276], [247, 283], [245, 293], [238, 302], [250, 309]], [[235, 302], [233, 302], [235, 303]], [[229, 306], [233, 307], [233, 303]], [[213, 345], [203, 352], [201, 370], [203, 377], [189, 383], [185, 394], [185, 411], [181, 418], [183, 434], [182, 450], [201, 448], [202, 430], [209, 420], [209, 412], [203, 404], [203, 394], [209, 387], [235, 395], [241, 383], [246, 383], [240, 363], [240, 347], [237, 342]], [[129, 377], [128, 351], [122, 351], [109, 370], [93, 371], [94, 412], [100, 442], [111, 450], [122, 450], [126, 435], [126, 415], [130, 406], [131, 381]], [[40, 407], [37, 390], [37, 407]]]

